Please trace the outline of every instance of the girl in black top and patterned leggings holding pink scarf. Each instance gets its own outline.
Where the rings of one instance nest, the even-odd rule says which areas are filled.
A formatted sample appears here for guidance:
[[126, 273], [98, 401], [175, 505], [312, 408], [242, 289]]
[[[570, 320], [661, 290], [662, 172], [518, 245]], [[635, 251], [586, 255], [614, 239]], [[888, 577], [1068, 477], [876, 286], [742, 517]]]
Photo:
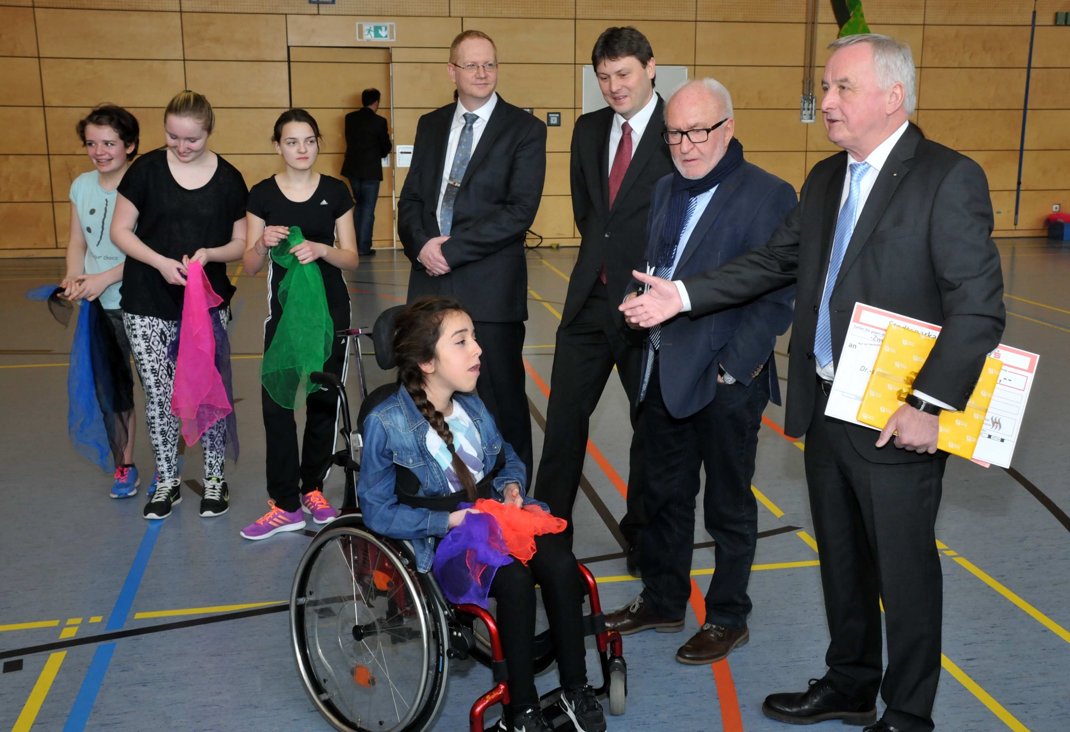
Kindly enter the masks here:
[[[111, 241], [126, 255], [123, 271], [123, 321], [134, 363], [146, 392], [146, 422], [156, 457], [157, 477], [144, 517], [170, 516], [179, 503], [180, 420], [171, 414], [174, 362], [167, 349], [178, 333], [185, 295], [186, 264], [199, 261], [215, 293], [223, 298], [219, 318], [230, 320], [234, 287], [225, 262], [245, 249], [245, 198], [248, 189], [230, 163], [208, 150], [215, 126], [212, 105], [196, 92], [178, 94], [164, 112], [166, 149], [146, 153], [119, 184]], [[136, 233], [135, 233], [136, 229]], [[201, 516], [227, 513], [224, 482], [226, 420], [201, 436], [204, 498]]]

